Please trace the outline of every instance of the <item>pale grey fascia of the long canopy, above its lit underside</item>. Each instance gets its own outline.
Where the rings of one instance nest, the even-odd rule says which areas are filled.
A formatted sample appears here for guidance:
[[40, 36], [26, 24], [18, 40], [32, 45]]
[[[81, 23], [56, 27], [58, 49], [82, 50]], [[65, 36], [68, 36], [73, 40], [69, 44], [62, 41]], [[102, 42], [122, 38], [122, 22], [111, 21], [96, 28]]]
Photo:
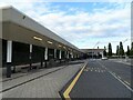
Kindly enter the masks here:
[[[0, 18], [0, 22], [10, 22], [10, 23], [17, 24], [19, 27], [32, 30], [39, 34], [39, 37], [37, 36], [37, 38], [39, 38], [39, 39], [41, 39], [40, 37], [43, 36], [43, 37], [45, 37], [44, 39], [49, 40], [50, 42], [51, 41], [57, 42], [59, 44], [62, 44], [63, 47], [66, 47], [70, 50], [72, 49], [78, 52], [82, 52], [82, 50], [80, 50], [75, 46], [71, 44], [66, 40], [62, 39], [61, 37], [55, 34], [51, 30], [47, 29], [42, 24], [38, 23], [33, 19], [29, 18], [28, 16], [18, 11], [16, 8], [13, 8], [11, 6], [0, 8], [0, 12], [2, 12], [2, 18]], [[11, 30], [11, 28], [10, 28], [10, 30]], [[25, 34], [25, 37], [27, 37], [27, 34]]]

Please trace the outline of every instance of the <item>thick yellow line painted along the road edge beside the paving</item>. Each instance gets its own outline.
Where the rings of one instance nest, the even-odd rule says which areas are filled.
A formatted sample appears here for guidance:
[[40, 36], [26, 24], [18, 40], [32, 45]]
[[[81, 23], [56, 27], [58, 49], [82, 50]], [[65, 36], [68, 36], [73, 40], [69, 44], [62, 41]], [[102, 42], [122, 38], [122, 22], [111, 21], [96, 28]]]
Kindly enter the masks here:
[[[86, 66], [86, 63], [85, 63]], [[71, 92], [71, 90], [73, 89], [74, 84], [76, 83], [78, 79], [80, 78], [81, 73], [83, 72], [85, 66], [82, 67], [82, 69], [80, 70], [80, 72], [76, 74], [76, 77], [74, 78], [74, 80], [71, 82], [71, 84], [68, 87], [68, 89], [63, 92], [63, 97], [65, 100], [71, 100], [69, 93]]]

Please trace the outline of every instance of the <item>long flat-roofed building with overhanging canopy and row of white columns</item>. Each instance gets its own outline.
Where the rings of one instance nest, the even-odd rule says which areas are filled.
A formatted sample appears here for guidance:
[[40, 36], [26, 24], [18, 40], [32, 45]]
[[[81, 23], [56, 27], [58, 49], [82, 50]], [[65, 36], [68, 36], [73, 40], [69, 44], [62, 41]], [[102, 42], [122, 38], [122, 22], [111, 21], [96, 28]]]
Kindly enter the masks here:
[[[10, 78], [12, 67], [80, 59], [83, 51], [13, 7], [0, 8], [0, 59]], [[16, 71], [16, 69], [13, 69]]]

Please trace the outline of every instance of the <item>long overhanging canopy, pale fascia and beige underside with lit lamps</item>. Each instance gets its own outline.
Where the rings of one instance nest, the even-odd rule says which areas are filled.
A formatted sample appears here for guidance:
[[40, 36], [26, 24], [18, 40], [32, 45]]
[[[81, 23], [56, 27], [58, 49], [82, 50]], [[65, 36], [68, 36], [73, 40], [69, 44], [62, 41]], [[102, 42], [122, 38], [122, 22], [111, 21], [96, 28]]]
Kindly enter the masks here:
[[0, 18], [0, 22], [2, 22], [3, 27], [2, 36], [0, 36], [2, 39], [82, 52], [82, 50], [75, 46], [11, 6], [0, 8], [0, 14], [2, 14]]

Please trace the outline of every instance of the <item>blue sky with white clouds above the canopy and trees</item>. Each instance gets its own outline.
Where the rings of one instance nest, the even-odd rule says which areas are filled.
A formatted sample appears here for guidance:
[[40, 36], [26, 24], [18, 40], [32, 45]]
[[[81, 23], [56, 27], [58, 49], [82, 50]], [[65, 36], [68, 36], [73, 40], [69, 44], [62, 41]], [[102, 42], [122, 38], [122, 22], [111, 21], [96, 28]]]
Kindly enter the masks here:
[[108, 48], [111, 42], [115, 52], [120, 41], [123, 42], [125, 51], [126, 47], [131, 46], [130, 2], [44, 2], [43, 0], [3, 2], [0, 0], [0, 7], [9, 4], [80, 49], [96, 49], [104, 46]]

